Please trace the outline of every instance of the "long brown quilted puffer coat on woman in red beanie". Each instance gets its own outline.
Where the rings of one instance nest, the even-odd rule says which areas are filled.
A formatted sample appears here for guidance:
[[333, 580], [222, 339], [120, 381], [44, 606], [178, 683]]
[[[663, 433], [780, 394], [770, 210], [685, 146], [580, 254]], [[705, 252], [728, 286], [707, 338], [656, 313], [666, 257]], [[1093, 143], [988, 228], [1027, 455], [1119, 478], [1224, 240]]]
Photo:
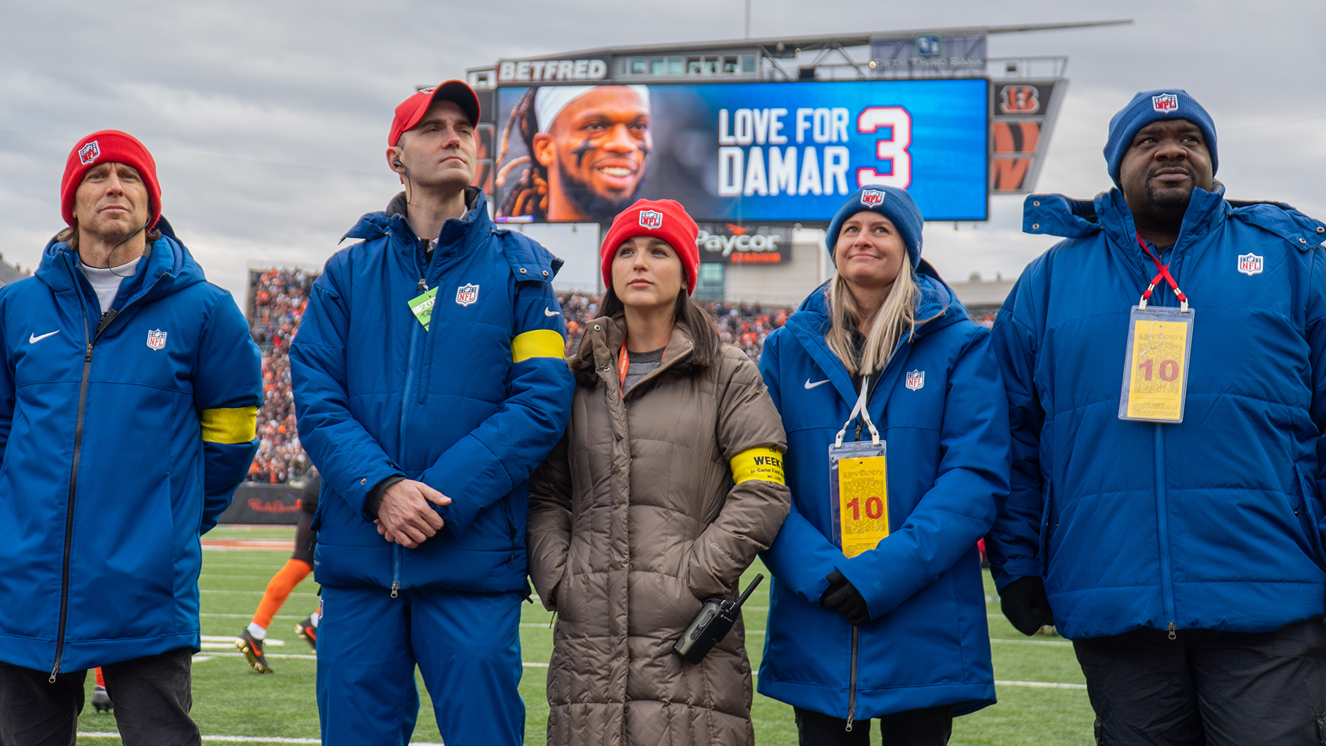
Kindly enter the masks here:
[[548, 672], [548, 743], [723, 745], [754, 741], [745, 632], [699, 664], [672, 644], [701, 599], [733, 593], [788, 515], [781, 482], [732, 485], [729, 459], [786, 450], [760, 372], [724, 346], [688, 364], [683, 325], [658, 370], [623, 401], [619, 321], [586, 324], [570, 425], [529, 482], [529, 573], [558, 613]]

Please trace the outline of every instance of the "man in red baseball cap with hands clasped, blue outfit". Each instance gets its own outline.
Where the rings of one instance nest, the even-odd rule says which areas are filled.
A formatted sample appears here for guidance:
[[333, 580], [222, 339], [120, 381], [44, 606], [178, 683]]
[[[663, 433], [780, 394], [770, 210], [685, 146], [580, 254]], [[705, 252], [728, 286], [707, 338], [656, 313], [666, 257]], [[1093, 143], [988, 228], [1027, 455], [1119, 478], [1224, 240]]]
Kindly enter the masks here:
[[[322, 475], [318, 714], [326, 746], [410, 741], [415, 668], [447, 743], [514, 746], [528, 477], [575, 388], [561, 260], [496, 228], [460, 81], [396, 106], [404, 191], [346, 234], [290, 348], [300, 441]], [[436, 741], [436, 738], [426, 738]]]

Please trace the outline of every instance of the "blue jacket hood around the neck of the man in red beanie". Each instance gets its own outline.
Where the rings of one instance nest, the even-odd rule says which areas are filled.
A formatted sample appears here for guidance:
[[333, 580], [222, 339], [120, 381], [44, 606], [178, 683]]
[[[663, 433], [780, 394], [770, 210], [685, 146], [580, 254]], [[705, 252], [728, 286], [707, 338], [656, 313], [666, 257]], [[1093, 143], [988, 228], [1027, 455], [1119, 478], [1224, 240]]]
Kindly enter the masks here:
[[[155, 230], [162, 232], [162, 238], [152, 242], [146, 252], [147, 260], [142, 271], [130, 279], [127, 288], [130, 301], [155, 300], [207, 280], [203, 268], [175, 236], [175, 228], [166, 218], [156, 223]], [[77, 291], [80, 273], [78, 252], [68, 242], [50, 239], [41, 252], [41, 265], [34, 272], [36, 277], [58, 293]], [[89, 289], [90, 287], [88, 285]]]

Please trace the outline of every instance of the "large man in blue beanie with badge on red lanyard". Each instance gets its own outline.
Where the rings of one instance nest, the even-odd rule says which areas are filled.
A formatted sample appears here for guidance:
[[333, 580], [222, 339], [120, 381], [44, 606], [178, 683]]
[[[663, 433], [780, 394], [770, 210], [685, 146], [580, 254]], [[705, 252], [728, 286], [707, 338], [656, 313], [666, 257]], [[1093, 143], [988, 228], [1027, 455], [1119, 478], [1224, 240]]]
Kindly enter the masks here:
[[1028, 196], [1065, 240], [994, 321], [1004, 615], [1073, 640], [1099, 743], [1322, 743], [1326, 224], [1225, 199], [1183, 90], [1139, 93], [1105, 158], [1094, 200]]

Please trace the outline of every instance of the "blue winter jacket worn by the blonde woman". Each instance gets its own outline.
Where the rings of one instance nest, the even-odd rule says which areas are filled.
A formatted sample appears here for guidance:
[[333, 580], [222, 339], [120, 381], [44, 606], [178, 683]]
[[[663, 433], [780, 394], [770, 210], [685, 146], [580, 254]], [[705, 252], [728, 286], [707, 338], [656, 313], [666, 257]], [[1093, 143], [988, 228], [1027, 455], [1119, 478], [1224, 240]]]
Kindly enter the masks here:
[[[760, 692], [839, 718], [853, 685], [857, 718], [936, 705], [965, 714], [994, 702], [976, 542], [1008, 494], [1008, 409], [989, 332], [967, 319], [928, 264], [916, 281], [916, 317], [927, 321], [870, 397], [888, 449], [891, 527], [874, 550], [846, 559], [830, 539], [829, 445], [858, 394], [825, 342], [823, 288], [769, 336], [760, 357], [788, 431], [792, 488], [792, 512], [762, 555], [773, 589]], [[914, 373], [911, 386], [904, 373]], [[846, 439], [857, 439], [855, 423]], [[834, 569], [861, 591], [873, 617], [861, 628], [855, 682], [851, 627], [819, 605]]]

